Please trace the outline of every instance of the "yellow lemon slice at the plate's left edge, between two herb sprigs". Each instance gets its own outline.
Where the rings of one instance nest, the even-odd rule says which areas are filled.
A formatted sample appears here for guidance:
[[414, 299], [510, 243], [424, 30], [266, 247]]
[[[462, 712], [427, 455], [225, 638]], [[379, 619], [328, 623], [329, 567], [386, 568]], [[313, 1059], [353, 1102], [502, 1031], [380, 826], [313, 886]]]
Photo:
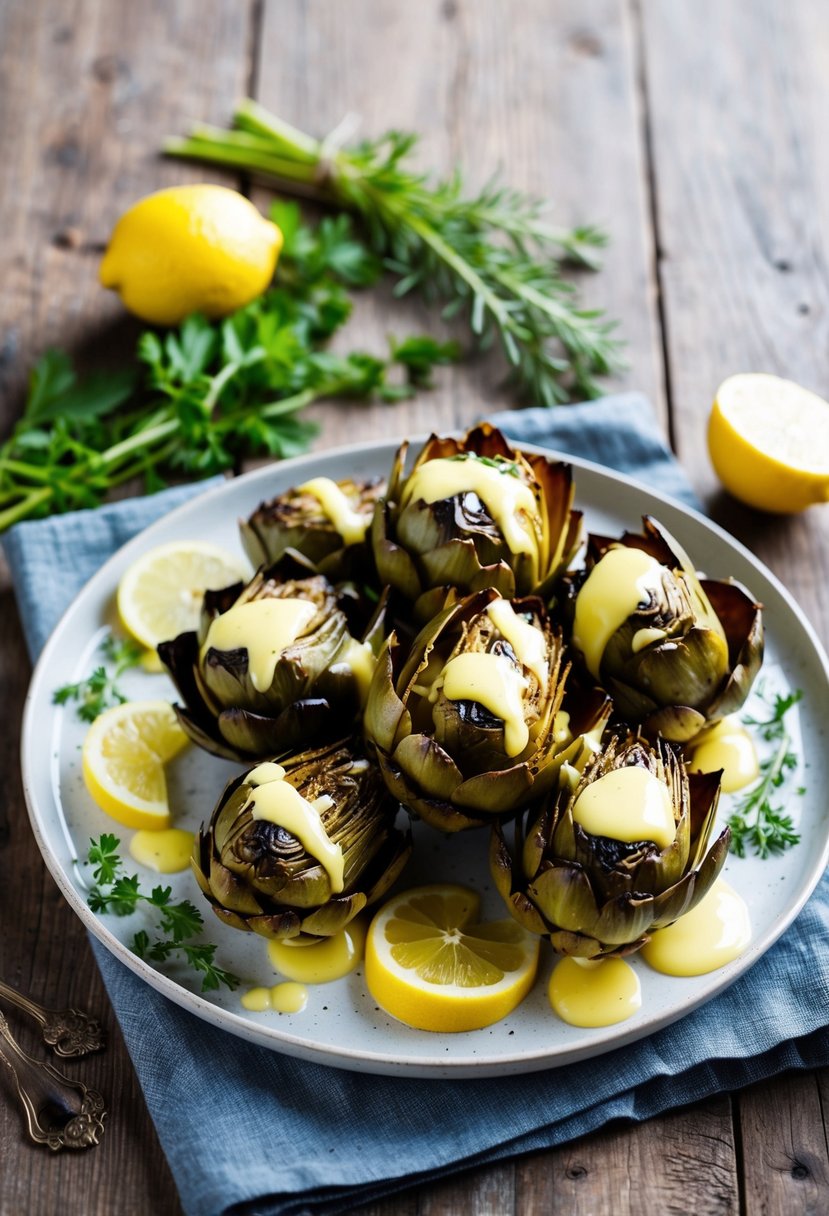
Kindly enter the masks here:
[[128, 700], [96, 717], [84, 739], [84, 781], [113, 820], [128, 828], [168, 828], [164, 765], [187, 742], [165, 700]]

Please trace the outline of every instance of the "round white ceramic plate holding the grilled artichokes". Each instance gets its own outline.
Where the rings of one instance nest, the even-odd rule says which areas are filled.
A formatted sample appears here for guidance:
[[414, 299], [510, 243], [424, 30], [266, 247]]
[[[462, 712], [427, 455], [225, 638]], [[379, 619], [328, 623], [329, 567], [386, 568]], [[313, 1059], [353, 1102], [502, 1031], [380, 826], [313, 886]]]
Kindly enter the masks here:
[[[768, 950], [814, 888], [829, 854], [825, 801], [829, 674], [827, 658], [797, 606], [748, 550], [701, 516], [583, 461], [574, 460], [573, 465], [577, 505], [585, 511], [587, 527], [604, 534], [625, 528], [638, 530], [642, 514], [650, 513], [677, 536], [707, 575], [733, 575], [744, 582], [765, 604], [767, 677], [779, 688], [803, 691], [801, 706], [788, 717], [800, 755], [808, 756], [793, 783], [806, 786], [806, 793], [793, 796], [788, 807], [795, 816], [801, 843], [779, 858], [731, 857], [727, 862], [727, 877], [748, 901], [754, 925], [752, 945], [741, 958], [693, 979], [659, 975], [635, 958], [643, 990], [641, 1012], [616, 1026], [581, 1030], [559, 1021], [547, 1003], [547, 976], [553, 962], [547, 950], [534, 991], [509, 1018], [486, 1030], [440, 1035], [414, 1031], [388, 1018], [368, 996], [361, 968], [343, 980], [312, 987], [303, 1013], [247, 1013], [239, 1003], [239, 991], [203, 996], [198, 978], [191, 973], [169, 963], [157, 969], [132, 955], [129, 942], [135, 930], [147, 923], [141, 913], [126, 919], [98, 917], [86, 906], [90, 867], [78, 858], [86, 856], [90, 837], [117, 831], [122, 852], [128, 856], [130, 833], [113, 827], [89, 798], [79, 754], [84, 726], [72, 709], [52, 704], [52, 693], [58, 686], [89, 675], [96, 664], [97, 647], [113, 619], [113, 595], [122, 573], [139, 553], [169, 540], [209, 537], [238, 550], [237, 519], [249, 514], [263, 499], [310, 475], [385, 475], [395, 447], [396, 444], [383, 443], [340, 449], [237, 478], [179, 507], [106, 563], [61, 620], [32, 681], [22, 762], [34, 833], [66, 899], [105, 946], [152, 987], [231, 1034], [303, 1059], [413, 1076], [523, 1073], [597, 1055], [681, 1018], [724, 989]], [[123, 687], [135, 698], [174, 699], [167, 676], [128, 672]], [[239, 767], [188, 748], [173, 770], [171, 796], [182, 807], [177, 823], [194, 831], [209, 818], [225, 781]], [[729, 799], [723, 798], [721, 805], [722, 817], [728, 814]], [[487, 835], [478, 832], [445, 839], [417, 826], [414, 858], [402, 883], [407, 886], [440, 879], [468, 883], [481, 890], [487, 917], [503, 916], [489, 878]], [[142, 872], [146, 886], [154, 885], [154, 880], [152, 873]], [[207, 935], [219, 945], [220, 966], [236, 972], [248, 986], [277, 983], [263, 939], [229, 929], [212, 917], [188, 873], [171, 876], [170, 882], [176, 897], [191, 897], [204, 907]]]

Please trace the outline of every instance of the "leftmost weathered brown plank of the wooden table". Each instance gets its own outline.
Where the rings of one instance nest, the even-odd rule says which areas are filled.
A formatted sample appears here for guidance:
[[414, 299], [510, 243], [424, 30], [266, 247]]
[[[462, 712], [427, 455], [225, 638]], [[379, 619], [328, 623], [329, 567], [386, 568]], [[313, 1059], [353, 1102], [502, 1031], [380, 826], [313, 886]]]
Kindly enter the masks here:
[[[50, 344], [88, 358], [136, 327], [96, 281], [100, 249], [135, 198], [203, 170], [160, 161], [160, 139], [248, 85], [250, 5], [179, 0], [109, 5], [33, 0], [0, 6], [0, 429], [19, 407], [35, 354]], [[11, 592], [0, 593], [0, 975], [57, 1008], [107, 1021], [106, 1054], [77, 1068], [107, 1097], [106, 1136], [60, 1158], [24, 1141], [0, 1081], [0, 1212], [175, 1216], [179, 1203], [80, 923], [49, 877], [19, 786], [18, 722], [29, 668]], [[19, 1015], [10, 1020], [41, 1051]]]

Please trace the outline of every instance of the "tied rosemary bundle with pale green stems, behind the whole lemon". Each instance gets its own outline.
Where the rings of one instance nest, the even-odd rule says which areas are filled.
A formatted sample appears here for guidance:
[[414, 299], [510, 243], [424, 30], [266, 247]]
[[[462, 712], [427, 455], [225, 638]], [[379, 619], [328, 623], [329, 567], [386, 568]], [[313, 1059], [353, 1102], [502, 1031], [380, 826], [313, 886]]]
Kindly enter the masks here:
[[340, 133], [311, 139], [250, 100], [233, 123], [235, 130], [198, 125], [187, 139], [167, 140], [164, 151], [359, 213], [397, 276], [396, 294], [439, 300], [445, 316], [466, 313], [481, 349], [497, 336], [521, 396], [537, 405], [594, 396], [597, 377], [619, 367], [614, 325], [579, 306], [562, 268], [597, 265], [605, 240], [597, 229], [551, 226], [541, 202], [498, 182], [468, 195], [459, 173], [432, 181], [411, 168], [411, 133], [342, 150]]

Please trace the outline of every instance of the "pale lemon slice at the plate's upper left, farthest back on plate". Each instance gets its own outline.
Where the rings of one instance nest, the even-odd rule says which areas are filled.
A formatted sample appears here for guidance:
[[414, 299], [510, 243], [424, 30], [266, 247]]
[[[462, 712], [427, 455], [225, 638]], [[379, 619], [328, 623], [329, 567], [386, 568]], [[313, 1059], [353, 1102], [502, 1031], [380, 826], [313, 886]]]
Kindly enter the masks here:
[[151, 548], [118, 584], [124, 629], [153, 651], [159, 642], [198, 625], [202, 597], [244, 578], [232, 553], [203, 541], [171, 541]]

